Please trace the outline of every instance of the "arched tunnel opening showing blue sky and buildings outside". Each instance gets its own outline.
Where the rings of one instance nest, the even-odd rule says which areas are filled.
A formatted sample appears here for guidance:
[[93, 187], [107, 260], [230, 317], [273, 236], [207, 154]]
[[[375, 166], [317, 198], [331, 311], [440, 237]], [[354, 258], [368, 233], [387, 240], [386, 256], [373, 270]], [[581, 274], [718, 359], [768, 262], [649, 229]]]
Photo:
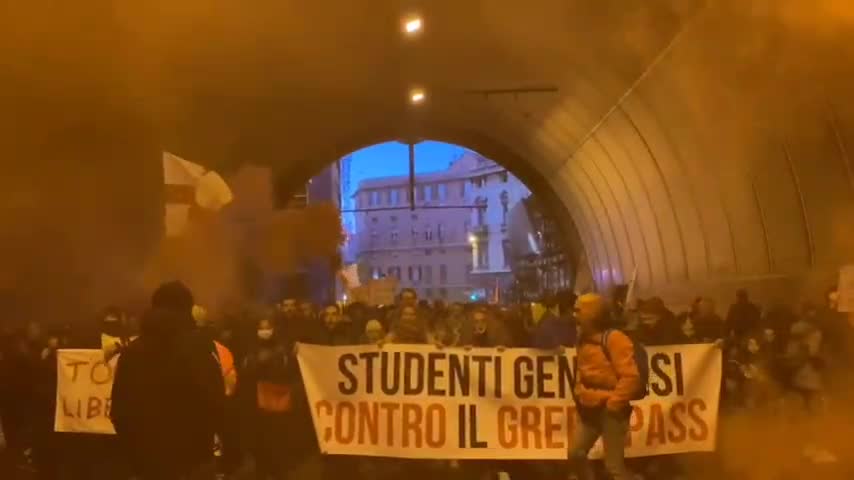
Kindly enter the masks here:
[[574, 227], [560, 223], [562, 205], [495, 159], [443, 142], [388, 141], [335, 168], [344, 260], [368, 278], [453, 301], [533, 301], [577, 287], [583, 252], [568, 238]]

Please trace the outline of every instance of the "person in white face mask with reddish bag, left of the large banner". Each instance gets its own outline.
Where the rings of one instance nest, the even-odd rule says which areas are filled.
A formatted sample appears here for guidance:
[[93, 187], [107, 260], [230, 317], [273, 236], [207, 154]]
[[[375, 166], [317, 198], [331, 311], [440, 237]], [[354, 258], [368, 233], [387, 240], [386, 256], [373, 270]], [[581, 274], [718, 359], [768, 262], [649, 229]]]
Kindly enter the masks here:
[[259, 479], [285, 478], [293, 467], [288, 448], [293, 423], [293, 389], [297, 366], [279, 340], [273, 320], [257, 324], [255, 345], [244, 361], [241, 388], [251, 419], [251, 450]]

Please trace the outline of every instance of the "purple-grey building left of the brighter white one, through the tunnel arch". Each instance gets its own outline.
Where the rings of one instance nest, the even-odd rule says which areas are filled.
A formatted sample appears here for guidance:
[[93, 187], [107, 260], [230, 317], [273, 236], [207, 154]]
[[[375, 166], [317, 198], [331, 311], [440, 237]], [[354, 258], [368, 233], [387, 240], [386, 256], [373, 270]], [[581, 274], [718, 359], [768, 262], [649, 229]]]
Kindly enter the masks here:
[[408, 176], [359, 184], [356, 245], [368, 276], [397, 278], [401, 288], [414, 288], [425, 299], [466, 300], [471, 270], [467, 170], [458, 160], [446, 171], [416, 176], [414, 210]]

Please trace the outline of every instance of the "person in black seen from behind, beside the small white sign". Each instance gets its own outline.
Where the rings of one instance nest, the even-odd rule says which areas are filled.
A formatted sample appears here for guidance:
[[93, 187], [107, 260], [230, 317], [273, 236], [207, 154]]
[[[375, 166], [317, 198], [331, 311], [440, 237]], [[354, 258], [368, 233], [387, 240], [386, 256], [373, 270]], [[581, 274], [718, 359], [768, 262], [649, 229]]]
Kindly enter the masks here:
[[151, 303], [119, 357], [111, 417], [140, 477], [189, 478], [213, 461], [225, 387], [216, 347], [194, 328], [187, 287], [166, 283]]

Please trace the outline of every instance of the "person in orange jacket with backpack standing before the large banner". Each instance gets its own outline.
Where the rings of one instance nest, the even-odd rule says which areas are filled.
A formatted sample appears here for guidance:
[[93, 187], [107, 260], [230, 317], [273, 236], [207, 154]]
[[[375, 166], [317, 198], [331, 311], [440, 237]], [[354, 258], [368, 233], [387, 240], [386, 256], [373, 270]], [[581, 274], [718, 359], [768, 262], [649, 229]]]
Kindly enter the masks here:
[[575, 381], [578, 420], [569, 461], [580, 480], [592, 479], [587, 455], [602, 437], [606, 470], [614, 480], [628, 480], [633, 478], [624, 458], [632, 412], [629, 401], [642, 388], [634, 343], [625, 333], [610, 330], [611, 311], [599, 295], [579, 297], [575, 316], [580, 329]]

